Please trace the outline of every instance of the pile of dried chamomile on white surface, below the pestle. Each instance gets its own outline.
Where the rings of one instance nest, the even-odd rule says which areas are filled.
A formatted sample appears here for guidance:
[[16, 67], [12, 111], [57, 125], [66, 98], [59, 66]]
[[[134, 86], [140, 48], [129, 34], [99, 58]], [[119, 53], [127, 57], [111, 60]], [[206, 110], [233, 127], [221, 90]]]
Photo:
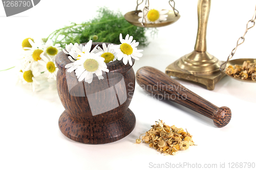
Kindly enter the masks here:
[[156, 121], [156, 125], [142, 136], [142, 139], [136, 139], [136, 143], [141, 141], [148, 143], [151, 148], [155, 148], [161, 153], [168, 155], [176, 155], [179, 150], [187, 150], [189, 146], [195, 145], [192, 140], [192, 135], [185, 132], [182, 128], [177, 128], [174, 125], [168, 126], [163, 123], [163, 120]]

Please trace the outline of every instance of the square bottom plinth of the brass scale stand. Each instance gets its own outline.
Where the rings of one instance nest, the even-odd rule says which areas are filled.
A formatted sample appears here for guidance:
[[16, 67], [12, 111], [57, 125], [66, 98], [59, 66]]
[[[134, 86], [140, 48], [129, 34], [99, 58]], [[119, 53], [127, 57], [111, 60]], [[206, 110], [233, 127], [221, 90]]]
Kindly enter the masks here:
[[208, 90], [214, 90], [216, 83], [218, 83], [224, 76], [225, 72], [219, 71], [209, 75], [200, 75], [196, 72], [186, 71], [181, 69], [177, 64], [178, 61], [168, 65], [165, 69], [165, 73], [168, 76], [174, 76], [181, 79], [190, 80], [193, 82], [198, 82], [200, 84], [206, 85]]

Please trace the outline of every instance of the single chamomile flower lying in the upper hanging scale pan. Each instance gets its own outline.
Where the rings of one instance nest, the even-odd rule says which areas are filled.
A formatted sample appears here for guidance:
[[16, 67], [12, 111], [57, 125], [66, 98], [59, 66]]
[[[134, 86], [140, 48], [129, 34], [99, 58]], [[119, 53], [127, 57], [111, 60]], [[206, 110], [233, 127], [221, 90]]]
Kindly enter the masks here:
[[159, 23], [161, 21], [165, 21], [166, 17], [168, 16], [165, 14], [167, 14], [169, 11], [152, 9], [145, 12], [147, 12], [147, 14], [144, 19], [143, 19], [143, 13], [142, 12], [138, 13], [138, 16], [141, 17], [138, 20], [139, 22], [142, 22], [142, 19], [143, 19], [143, 22], [146, 22], [146, 23]]

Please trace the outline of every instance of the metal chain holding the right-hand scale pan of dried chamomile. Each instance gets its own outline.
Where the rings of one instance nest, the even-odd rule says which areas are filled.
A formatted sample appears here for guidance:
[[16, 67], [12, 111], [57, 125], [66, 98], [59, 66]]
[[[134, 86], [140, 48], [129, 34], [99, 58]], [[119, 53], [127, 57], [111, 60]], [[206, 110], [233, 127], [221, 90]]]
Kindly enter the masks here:
[[[228, 56], [228, 58], [227, 58], [227, 61], [224, 62], [223, 64], [221, 64], [221, 66], [220, 66], [220, 70], [221, 70], [221, 71], [223, 71], [223, 70], [226, 68], [227, 62], [234, 56], [234, 54], [235, 54], [236, 51], [237, 51], [238, 46], [241, 45], [242, 43], [244, 43], [244, 40], [245, 40], [244, 37], [245, 37], [247, 31], [248, 31], [249, 29], [251, 29], [252, 27], [255, 26], [255, 20], [256, 20], [256, 6], [255, 6], [255, 11], [254, 11], [254, 14], [253, 14], [251, 20], [249, 20], [249, 21], [247, 22], [246, 30], [245, 30], [245, 32], [244, 32], [244, 35], [238, 39], [238, 41], [237, 41], [237, 46], [236, 46], [235, 48], [233, 48], [233, 50], [231, 51], [231, 53], [229, 54], [229, 56]], [[250, 22], [253, 23], [253, 25], [248, 28]], [[224, 64], [225, 64], [225, 66], [224, 66], [224, 68], [222, 68], [222, 66], [223, 66]]]

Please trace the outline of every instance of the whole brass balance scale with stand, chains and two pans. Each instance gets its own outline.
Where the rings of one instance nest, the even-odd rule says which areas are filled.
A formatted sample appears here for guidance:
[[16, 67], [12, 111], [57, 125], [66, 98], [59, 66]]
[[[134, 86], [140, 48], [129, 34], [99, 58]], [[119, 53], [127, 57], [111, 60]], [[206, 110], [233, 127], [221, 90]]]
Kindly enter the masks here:
[[[137, 27], [146, 27], [146, 28], [156, 28], [170, 25], [176, 22], [180, 18], [179, 11], [175, 9], [175, 2], [173, 0], [169, 0], [169, 5], [173, 10], [169, 10], [167, 13], [167, 20], [162, 21], [160, 23], [146, 23], [144, 17], [146, 17], [146, 11], [150, 7], [149, 0], [145, 1], [145, 7], [143, 11], [138, 10], [138, 6], [143, 3], [143, 0], [137, 0], [137, 7], [135, 11], [128, 12], [124, 15], [124, 18], [130, 22], [132, 25]], [[185, 56], [181, 57], [174, 63], [168, 65], [165, 69], [165, 73], [168, 76], [174, 76], [194, 82], [198, 82], [206, 85], [208, 90], [213, 90], [215, 88], [216, 83], [218, 83], [226, 74], [225, 68], [229, 65], [242, 65], [244, 61], [253, 62], [255, 59], [236, 59], [230, 60], [234, 53], [236, 53], [237, 48], [241, 45], [245, 38], [247, 31], [254, 27], [256, 20], [256, 8], [252, 19], [250, 19], [247, 23], [246, 31], [242, 37], [240, 37], [237, 41], [237, 46], [233, 48], [230, 55], [227, 58], [227, 61], [220, 61], [216, 57], [210, 55], [206, 51], [206, 28], [207, 22], [210, 12], [210, 3], [211, 0], [199, 0], [198, 1], [198, 33], [196, 39], [195, 50]], [[142, 22], [139, 22], [138, 13], [143, 13]], [[253, 24], [249, 27], [250, 22]], [[240, 78], [234, 78], [231, 75], [229, 77], [244, 81], [244, 82], [255, 82], [252, 80], [242, 80]]]

